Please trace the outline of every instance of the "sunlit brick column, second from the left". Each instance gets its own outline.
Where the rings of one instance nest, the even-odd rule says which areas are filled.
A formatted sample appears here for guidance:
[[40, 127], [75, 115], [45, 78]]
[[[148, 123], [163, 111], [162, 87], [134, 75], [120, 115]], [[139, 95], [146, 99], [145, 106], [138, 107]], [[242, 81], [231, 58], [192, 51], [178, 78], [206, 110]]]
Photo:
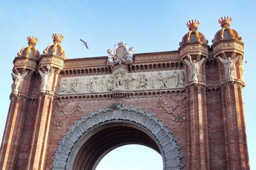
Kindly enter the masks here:
[[56, 85], [60, 69], [52, 73], [49, 90], [40, 90], [37, 95], [37, 109], [31, 150], [29, 153], [28, 169], [45, 169], [46, 155], [49, 146], [49, 132], [51, 131], [51, 117], [54, 99], [56, 99]]

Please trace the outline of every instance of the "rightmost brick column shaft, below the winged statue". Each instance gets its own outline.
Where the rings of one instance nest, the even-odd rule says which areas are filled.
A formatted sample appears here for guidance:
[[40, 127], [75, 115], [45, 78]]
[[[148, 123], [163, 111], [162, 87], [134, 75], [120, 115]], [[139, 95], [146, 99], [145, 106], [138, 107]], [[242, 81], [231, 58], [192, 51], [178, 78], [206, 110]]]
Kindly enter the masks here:
[[223, 103], [227, 169], [250, 169], [241, 84], [236, 81], [223, 83], [221, 85], [221, 99]]

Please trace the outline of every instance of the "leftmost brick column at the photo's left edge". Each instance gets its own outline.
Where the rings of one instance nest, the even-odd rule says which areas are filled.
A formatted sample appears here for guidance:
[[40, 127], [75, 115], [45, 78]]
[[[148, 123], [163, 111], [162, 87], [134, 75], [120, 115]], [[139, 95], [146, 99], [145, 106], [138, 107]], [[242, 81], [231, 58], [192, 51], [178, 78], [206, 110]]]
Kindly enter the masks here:
[[28, 90], [34, 73], [29, 69], [24, 69], [23, 73], [25, 71], [29, 73], [24, 77], [19, 92], [12, 92], [10, 95], [11, 103], [0, 152], [0, 169], [15, 169], [16, 166], [24, 118], [28, 110]]

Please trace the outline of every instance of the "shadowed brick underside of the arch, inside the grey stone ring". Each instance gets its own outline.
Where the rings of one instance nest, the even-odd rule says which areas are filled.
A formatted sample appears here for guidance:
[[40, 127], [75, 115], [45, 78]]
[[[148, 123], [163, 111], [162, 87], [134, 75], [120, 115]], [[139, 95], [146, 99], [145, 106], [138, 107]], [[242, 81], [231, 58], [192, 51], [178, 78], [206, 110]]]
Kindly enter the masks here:
[[[74, 152], [70, 155], [68, 169], [95, 169], [100, 160], [111, 150], [120, 146], [138, 144], [148, 146], [161, 155], [161, 150], [146, 129], [137, 127], [132, 122], [111, 121], [95, 127], [99, 131], [92, 131], [90, 138], [79, 139], [74, 146]], [[72, 154], [74, 153], [75, 158]]]

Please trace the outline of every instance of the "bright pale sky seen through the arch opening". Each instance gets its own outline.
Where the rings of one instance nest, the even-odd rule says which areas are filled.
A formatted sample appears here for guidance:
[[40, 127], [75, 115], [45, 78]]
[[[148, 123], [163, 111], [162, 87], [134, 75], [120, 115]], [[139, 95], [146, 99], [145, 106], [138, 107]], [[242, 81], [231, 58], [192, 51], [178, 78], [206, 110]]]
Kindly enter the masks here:
[[161, 170], [161, 154], [142, 145], [124, 145], [115, 148], [100, 160], [95, 170], [141, 169]]

